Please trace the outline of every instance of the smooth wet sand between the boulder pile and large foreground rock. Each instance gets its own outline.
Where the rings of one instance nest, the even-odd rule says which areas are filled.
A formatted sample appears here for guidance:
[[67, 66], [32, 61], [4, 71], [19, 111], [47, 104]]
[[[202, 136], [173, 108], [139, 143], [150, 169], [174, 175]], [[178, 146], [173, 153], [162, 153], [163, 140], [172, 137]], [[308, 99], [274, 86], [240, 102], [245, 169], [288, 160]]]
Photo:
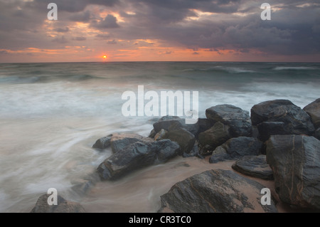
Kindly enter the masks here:
[[[210, 164], [208, 158], [176, 157], [166, 164], [134, 171], [129, 176], [117, 181], [100, 181], [84, 196], [80, 203], [87, 212], [156, 212], [161, 206], [160, 196], [166, 194], [176, 182], [183, 181], [189, 176], [200, 174], [209, 169], [234, 171], [232, 165], [235, 161]], [[240, 175], [245, 176], [243, 174]], [[274, 199], [279, 201], [274, 191], [274, 181], [250, 176], [245, 177], [269, 188]], [[247, 193], [250, 194], [250, 189], [248, 189]], [[293, 211], [281, 202], [277, 203], [277, 208], [282, 213]], [[257, 209], [252, 212], [260, 212], [260, 210]]]

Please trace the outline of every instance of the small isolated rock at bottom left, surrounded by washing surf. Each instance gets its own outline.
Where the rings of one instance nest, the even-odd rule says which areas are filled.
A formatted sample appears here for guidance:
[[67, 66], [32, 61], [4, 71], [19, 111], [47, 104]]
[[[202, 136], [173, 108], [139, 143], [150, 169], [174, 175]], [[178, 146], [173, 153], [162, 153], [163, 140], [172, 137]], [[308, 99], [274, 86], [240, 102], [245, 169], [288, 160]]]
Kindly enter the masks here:
[[58, 205], [48, 205], [48, 197], [50, 194], [43, 194], [36, 202], [31, 213], [85, 213], [85, 208], [80, 204], [66, 201], [58, 195]]

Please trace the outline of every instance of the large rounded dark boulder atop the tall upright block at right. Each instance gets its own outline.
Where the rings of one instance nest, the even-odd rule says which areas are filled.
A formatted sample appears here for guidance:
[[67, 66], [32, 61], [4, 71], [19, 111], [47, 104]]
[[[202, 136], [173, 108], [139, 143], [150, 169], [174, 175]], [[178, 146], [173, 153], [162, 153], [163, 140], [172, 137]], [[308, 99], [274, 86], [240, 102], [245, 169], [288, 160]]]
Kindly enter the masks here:
[[[252, 125], [259, 125], [262, 122], [283, 122], [284, 127], [272, 125], [272, 127], [279, 127], [279, 131], [273, 132], [273, 134], [311, 135], [314, 132], [310, 116], [289, 100], [272, 100], [254, 105], [251, 108], [251, 121]], [[271, 125], [268, 126], [271, 127]], [[261, 134], [265, 134], [265, 132]]]

